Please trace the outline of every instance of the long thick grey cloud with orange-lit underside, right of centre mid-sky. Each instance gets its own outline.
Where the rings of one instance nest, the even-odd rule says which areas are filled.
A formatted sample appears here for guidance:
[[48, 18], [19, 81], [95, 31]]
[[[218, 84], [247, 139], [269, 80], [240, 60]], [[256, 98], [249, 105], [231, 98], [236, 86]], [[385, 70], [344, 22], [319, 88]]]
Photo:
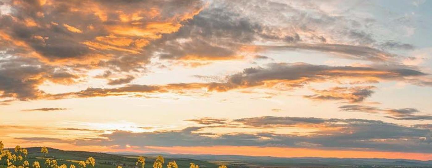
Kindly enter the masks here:
[[[358, 73], [358, 72], [362, 73]], [[405, 68], [391, 67], [330, 67], [307, 63], [270, 63], [267, 67], [252, 67], [226, 77], [225, 83], [213, 83], [210, 89], [229, 90], [239, 86], [259, 86], [266, 81], [286, 81], [287, 86], [303, 86], [308, 82], [317, 82], [340, 77], [404, 80], [408, 76], [424, 76], [426, 74]], [[295, 81], [291, 82], [290, 81]]]

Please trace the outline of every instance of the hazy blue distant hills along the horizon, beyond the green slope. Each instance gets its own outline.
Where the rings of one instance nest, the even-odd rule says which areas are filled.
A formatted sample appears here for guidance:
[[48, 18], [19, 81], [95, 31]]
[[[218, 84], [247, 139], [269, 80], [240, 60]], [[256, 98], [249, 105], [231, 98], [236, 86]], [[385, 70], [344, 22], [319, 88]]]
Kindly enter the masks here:
[[[133, 152], [119, 152], [116, 154], [138, 155]], [[155, 156], [160, 153], [144, 153], [143, 155]], [[280, 158], [270, 156], [243, 156], [243, 155], [185, 155], [163, 154], [170, 158], [193, 158], [208, 162], [242, 165], [251, 168], [401, 168], [421, 167], [432, 168], [431, 161], [419, 161], [410, 159], [385, 159], [385, 158]]]

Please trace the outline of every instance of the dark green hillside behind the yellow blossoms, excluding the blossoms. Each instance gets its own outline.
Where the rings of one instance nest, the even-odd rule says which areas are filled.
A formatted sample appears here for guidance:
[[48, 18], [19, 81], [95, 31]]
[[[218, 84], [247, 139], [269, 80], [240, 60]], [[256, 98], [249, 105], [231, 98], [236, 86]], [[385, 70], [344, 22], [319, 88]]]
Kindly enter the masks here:
[[[122, 166], [123, 168], [138, 168], [135, 165], [135, 162], [137, 162], [137, 156], [131, 156], [131, 155], [112, 155], [107, 153], [98, 153], [98, 152], [84, 152], [84, 151], [65, 151], [60, 149], [53, 149], [48, 148], [48, 154], [44, 156], [44, 154], [41, 153], [41, 147], [32, 147], [32, 148], [26, 148], [29, 152], [27, 155], [27, 160], [32, 164], [35, 161], [38, 161], [41, 163], [42, 168], [44, 168], [44, 161], [47, 158], [56, 159], [58, 162], [58, 165], [66, 164], [68, 165], [75, 165], [76, 168], [78, 168], [78, 162], [79, 161], [85, 161], [89, 157], [93, 157], [96, 160], [95, 168], [117, 168], [118, 165]], [[9, 149], [10, 151], [13, 151], [13, 149]], [[12, 152], [13, 153], [13, 152]], [[152, 168], [153, 162], [155, 161], [155, 156], [146, 157], [146, 168]], [[177, 162], [179, 168], [189, 168], [190, 163], [193, 162], [200, 166], [200, 168], [217, 168], [219, 165], [216, 165], [214, 163], [206, 162], [206, 161], [200, 161], [195, 159], [188, 159], [188, 158], [165, 158], [165, 164], [164, 167], [166, 167], [166, 164], [168, 162], [174, 161]], [[2, 165], [0, 165], [0, 168], [5, 168], [6, 165], [4, 162], [1, 162]]]

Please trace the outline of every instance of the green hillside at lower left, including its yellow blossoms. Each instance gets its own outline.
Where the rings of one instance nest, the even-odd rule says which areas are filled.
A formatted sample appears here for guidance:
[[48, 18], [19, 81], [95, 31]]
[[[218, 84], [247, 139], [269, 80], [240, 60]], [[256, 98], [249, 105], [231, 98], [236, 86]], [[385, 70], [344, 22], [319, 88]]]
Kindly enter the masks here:
[[[3, 149], [0, 141], [0, 168], [227, 168], [206, 161], [111, 155], [98, 152], [63, 151], [47, 147]], [[146, 165], [147, 164], [147, 165]]]

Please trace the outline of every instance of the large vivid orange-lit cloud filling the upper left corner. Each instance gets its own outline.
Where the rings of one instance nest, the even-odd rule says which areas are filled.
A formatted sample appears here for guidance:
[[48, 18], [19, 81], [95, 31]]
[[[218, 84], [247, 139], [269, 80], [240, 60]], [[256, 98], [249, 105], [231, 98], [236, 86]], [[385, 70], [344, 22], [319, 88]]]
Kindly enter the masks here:
[[48, 60], [142, 54], [149, 41], [176, 32], [203, 7], [200, 0], [14, 2], [14, 12], [0, 18], [9, 26], [0, 30], [23, 44], [15, 54], [35, 51]]

